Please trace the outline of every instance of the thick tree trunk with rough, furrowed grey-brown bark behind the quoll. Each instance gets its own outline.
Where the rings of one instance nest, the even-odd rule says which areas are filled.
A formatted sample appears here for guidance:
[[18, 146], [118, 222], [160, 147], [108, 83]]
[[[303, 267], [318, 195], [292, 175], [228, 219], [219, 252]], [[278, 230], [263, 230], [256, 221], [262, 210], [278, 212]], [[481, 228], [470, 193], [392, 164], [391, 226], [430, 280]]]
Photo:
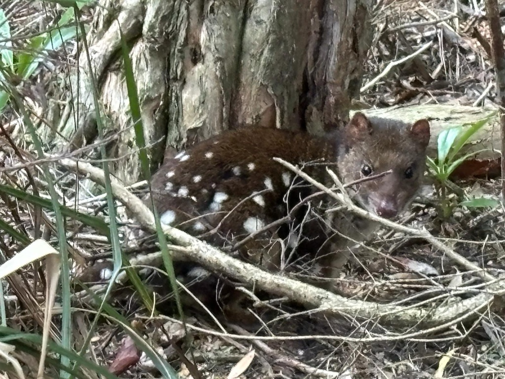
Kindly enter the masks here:
[[[139, 178], [119, 28], [132, 46], [142, 121], [158, 164], [166, 150], [241, 124], [320, 133], [347, 120], [372, 38], [371, 3], [98, 1], [87, 38], [108, 131], [121, 131], [109, 150], [117, 158], [113, 171], [126, 183]], [[97, 135], [84, 52], [78, 70], [78, 117], [60, 130], [62, 150]]]

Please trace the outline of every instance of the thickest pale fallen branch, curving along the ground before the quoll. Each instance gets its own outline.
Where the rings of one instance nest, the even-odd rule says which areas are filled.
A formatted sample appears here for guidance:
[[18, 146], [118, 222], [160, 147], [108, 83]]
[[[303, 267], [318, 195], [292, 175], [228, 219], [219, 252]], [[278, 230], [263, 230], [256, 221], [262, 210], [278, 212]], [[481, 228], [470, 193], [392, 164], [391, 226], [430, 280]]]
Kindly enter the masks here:
[[[60, 163], [69, 169], [86, 175], [96, 183], [105, 185], [105, 176], [102, 169], [85, 162], [76, 162], [70, 159], [62, 159]], [[136, 196], [131, 194], [125, 186], [115, 177], [110, 177], [112, 192], [133, 214], [139, 223], [150, 229], [156, 230], [153, 213]], [[460, 322], [463, 319], [476, 317], [478, 312], [488, 307], [494, 300], [495, 291], [498, 294], [505, 292], [502, 286], [490, 286], [490, 291], [475, 297], [444, 304], [430, 309], [409, 309], [404, 307], [390, 306], [388, 304], [376, 304], [366, 301], [347, 299], [335, 295], [324, 289], [302, 283], [288, 277], [269, 273], [255, 265], [242, 262], [224, 254], [219, 249], [199, 241], [191, 235], [176, 228], [163, 225], [164, 232], [178, 245], [186, 248], [182, 254], [184, 258], [197, 262], [201, 266], [211, 270], [222, 272], [247, 285], [256, 285], [257, 288], [277, 295], [285, 296], [312, 309], [320, 309], [329, 315], [352, 315], [365, 319], [381, 318], [386, 322], [394, 322], [395, 325], [415, 325], [418, 320], [425, 320], [427, 325], [450, 325], [452, 322]], [[398, 336], [397, 338], [405, 338]]]

